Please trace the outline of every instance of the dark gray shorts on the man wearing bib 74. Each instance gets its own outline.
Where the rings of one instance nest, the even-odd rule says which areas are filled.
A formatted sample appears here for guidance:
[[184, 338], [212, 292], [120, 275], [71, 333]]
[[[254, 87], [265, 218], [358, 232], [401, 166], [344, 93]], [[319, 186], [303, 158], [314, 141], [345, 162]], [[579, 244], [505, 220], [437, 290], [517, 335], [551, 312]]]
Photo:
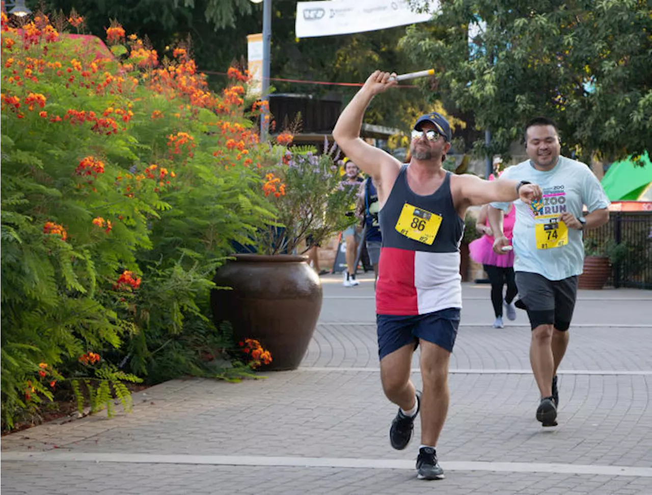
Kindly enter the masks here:
[[568, 330], [575, 309], [577, 283], [577, 276], [548, 280], [538, 273], [517, 271], [518, 297], [527, 307], [531, 327], [555, 325], [557, 330]]

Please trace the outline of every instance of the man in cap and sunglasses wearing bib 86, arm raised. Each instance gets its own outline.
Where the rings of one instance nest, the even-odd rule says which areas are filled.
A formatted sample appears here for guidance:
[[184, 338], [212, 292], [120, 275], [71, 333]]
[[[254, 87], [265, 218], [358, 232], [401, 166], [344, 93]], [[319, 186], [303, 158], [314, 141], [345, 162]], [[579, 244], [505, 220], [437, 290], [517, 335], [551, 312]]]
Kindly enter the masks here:
[[[541, 198], [533, 184], [482, 181], [442, 168], [451, 128], [439, 113], [420, 117], [412, 131], [411, 158], [401, 164], [360, 138], [372, 98], [396, 85], [395, 74], [376, 70], [340, 115], [333, 136], [344, 153], [378, 188], [383, 241], [376, 286], [378, 353], [383, 391], [399, 407], [389, 438], [405, 449], [421, 410], [419, 479], [442, 479], [437, 440], [449, 406], [449, 359], [460, 323], [462, 286], [459, 246], [467, 207]], [[410, 380], [421, 346], [422, 393]]]

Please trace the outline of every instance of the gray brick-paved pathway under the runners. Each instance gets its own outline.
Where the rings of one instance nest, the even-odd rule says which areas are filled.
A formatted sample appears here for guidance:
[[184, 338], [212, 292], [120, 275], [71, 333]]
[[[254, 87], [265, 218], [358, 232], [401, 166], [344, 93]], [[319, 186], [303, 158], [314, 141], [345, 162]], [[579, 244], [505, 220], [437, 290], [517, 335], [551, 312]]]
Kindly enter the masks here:
[[173, 380], [134, 395], [130, 415], [0, 438], [0, 494], [652, 494], [652, 292], [580, 292], [560, 424], [544, 429], [525, 314], [492, 329], [488, 287], [465, 285], [437, 449], [447, 479], [424, 482], [418, 442], [389, 446], [395, 407], [381, 391], [363, 280], [345, 289], [324, 278], [299, 370]]

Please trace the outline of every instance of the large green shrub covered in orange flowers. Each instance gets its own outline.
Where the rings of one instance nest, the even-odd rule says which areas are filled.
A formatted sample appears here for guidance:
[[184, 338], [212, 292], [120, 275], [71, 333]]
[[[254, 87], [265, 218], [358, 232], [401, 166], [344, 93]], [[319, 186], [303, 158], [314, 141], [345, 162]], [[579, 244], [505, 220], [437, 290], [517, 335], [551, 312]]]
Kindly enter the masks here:
[[17, 30], [0, 12], [0, 430], [55, 383], [110, 412], [136, 375], [203, 369], [188, 346], [225, 348], [215, 266], [274, 218], [246, 72], [216, 94], [187, 46], [68, 23], [39, 12]]

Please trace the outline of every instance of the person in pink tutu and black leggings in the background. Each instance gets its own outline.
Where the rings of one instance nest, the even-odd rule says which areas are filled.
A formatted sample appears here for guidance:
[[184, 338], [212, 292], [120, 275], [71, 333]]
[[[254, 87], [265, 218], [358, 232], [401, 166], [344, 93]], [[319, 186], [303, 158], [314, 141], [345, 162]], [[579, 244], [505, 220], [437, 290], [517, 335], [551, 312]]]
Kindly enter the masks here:
[[[486, 271], [489, 282], [491, 282], [491, 302], [494, 305], [494, 328], [503, 328], [503, 305], [507, 312], [509, 320], [516, 320], [516, 307], [514, 307], [514, 298], [518, 293], [516, 281], [514, 280], [514, 251], [509, 250], [507, 254], [496, 254], [494, 252], [494, 233], [489, 226], [487, 219], [487, 210], [489, 205], [484, 205], [478, 215], [475, 223], [475, 230], [482, 234], [480, 239], [469, 244], [469, 255], [476, 263], [481, 263]], [[512, 240], [512, 229], [516, 219], [516, 210], [514, 205], [509, 207], [509, 213], [505, 213], [503, 228], [505, 237]], [[503, 298], [503, 287], [507, 284], [507, 292]]]

